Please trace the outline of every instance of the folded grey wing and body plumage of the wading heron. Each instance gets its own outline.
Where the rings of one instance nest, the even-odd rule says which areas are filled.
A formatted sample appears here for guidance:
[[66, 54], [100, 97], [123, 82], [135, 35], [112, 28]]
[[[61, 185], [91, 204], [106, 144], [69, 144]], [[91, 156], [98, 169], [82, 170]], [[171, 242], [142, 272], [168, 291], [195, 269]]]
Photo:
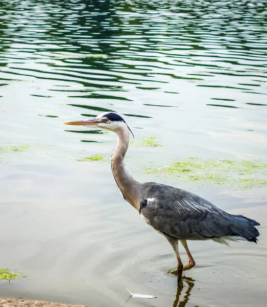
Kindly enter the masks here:
[[[244, 217], [239, 220], [199, 196], [156, 183], [142, 186], [140, 214], [160, 233], [180, 239], [207, 239], [226, 235], [257, 236]], [[249, 228], [249, 229], [247, 229]], [[256, 230], [256, 232], [255, 232]]]

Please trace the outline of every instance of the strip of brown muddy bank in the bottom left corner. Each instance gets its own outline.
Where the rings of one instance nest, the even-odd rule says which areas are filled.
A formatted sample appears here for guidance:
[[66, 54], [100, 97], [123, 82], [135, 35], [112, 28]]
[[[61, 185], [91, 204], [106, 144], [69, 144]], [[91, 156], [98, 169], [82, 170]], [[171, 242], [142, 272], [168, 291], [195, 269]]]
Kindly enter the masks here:
[[[84, 305], [69, 305], [52, 302], [42, 302], [15, 298], [0, 298], [1, 307], [86, 307]], [[87, 306], [90, 307], [90, 306]]]

